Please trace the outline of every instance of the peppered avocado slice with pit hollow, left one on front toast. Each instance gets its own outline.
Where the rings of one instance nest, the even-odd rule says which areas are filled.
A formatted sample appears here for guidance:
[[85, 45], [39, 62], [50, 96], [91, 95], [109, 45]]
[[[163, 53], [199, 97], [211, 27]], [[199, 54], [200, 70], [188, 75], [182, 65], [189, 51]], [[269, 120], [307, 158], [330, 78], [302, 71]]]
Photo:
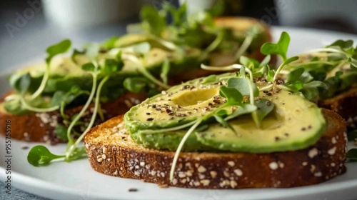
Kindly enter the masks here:
[[137, 130], [163, 129], [194, 121], [223, 104], [219, 89], [233, 73], [211, 75], [171, 87], [128, 111], [124, 120], [131, 134]]

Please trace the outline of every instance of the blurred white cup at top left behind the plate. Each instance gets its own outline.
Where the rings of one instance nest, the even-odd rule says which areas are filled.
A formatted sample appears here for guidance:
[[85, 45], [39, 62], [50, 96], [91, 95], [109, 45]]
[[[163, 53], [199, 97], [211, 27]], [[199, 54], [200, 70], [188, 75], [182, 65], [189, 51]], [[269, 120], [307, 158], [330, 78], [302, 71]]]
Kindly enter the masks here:
[[128, 19], [145, 0], [43, 0], [45, 17], [61, 28], [83, 28]]

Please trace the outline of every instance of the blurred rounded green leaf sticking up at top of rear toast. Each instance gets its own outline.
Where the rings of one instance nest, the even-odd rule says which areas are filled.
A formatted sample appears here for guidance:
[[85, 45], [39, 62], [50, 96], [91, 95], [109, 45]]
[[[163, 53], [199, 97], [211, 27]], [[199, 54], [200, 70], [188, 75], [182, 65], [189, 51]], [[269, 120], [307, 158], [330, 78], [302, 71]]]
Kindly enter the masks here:
[[149, 33], [161, 36], [161, 33], [166, 27], [166, 19], [163, 16], [160, 16], [154, 6], [143, 6], [140, 11], [140, 18], [146, 25], [145, 27]]

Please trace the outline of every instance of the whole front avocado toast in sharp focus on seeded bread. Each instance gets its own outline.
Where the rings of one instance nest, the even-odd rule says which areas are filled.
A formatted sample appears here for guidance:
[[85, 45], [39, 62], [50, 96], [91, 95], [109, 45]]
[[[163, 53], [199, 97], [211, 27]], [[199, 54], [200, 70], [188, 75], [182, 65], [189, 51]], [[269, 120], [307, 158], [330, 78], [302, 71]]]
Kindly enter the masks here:
[[[256, 109], [245, 98], [235, 99], [243, 102], [240, 106], [224, 106], [234, 101], [224, 94], [232, 79], [240, 78], [222, 74], [189, 81], [94, 127], [84, 138], [92, 168], [110, 176], [201, 189], [303, 186], [346, 171], [341, 116], [275, 86], [253, 98]], [[254, 82], [260, 89], [267, 84]], [[180, 129], [185, 124], [189, 126]]]

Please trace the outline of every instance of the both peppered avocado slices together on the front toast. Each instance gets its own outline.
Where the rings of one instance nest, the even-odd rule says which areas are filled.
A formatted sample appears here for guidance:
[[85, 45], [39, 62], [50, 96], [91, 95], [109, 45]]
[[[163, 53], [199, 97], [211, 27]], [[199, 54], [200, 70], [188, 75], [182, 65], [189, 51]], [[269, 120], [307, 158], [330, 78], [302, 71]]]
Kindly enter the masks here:
[[[228, 73], [195, 79], [146, 99], [125, 114], [126, 129], [139, 144], [175, 151], [190, 126], [176, 131], [160, 130], [174, 129], [215, 110], [225, 100], [219, 96], [220, 83], [224, 85], [233, 76]], [[208, 128], [191, 134], [183, 151], [270, 153], [304, 149], [315, 144], [326, 129], [321, 109], [300, 94], [286, 90], [272, 90], [269, 95], [261, 92], [258, 97], [274, 104], [260, 128], [251, 114], [228, 121], [235, 131], [208, 119], [203, 121]]]

